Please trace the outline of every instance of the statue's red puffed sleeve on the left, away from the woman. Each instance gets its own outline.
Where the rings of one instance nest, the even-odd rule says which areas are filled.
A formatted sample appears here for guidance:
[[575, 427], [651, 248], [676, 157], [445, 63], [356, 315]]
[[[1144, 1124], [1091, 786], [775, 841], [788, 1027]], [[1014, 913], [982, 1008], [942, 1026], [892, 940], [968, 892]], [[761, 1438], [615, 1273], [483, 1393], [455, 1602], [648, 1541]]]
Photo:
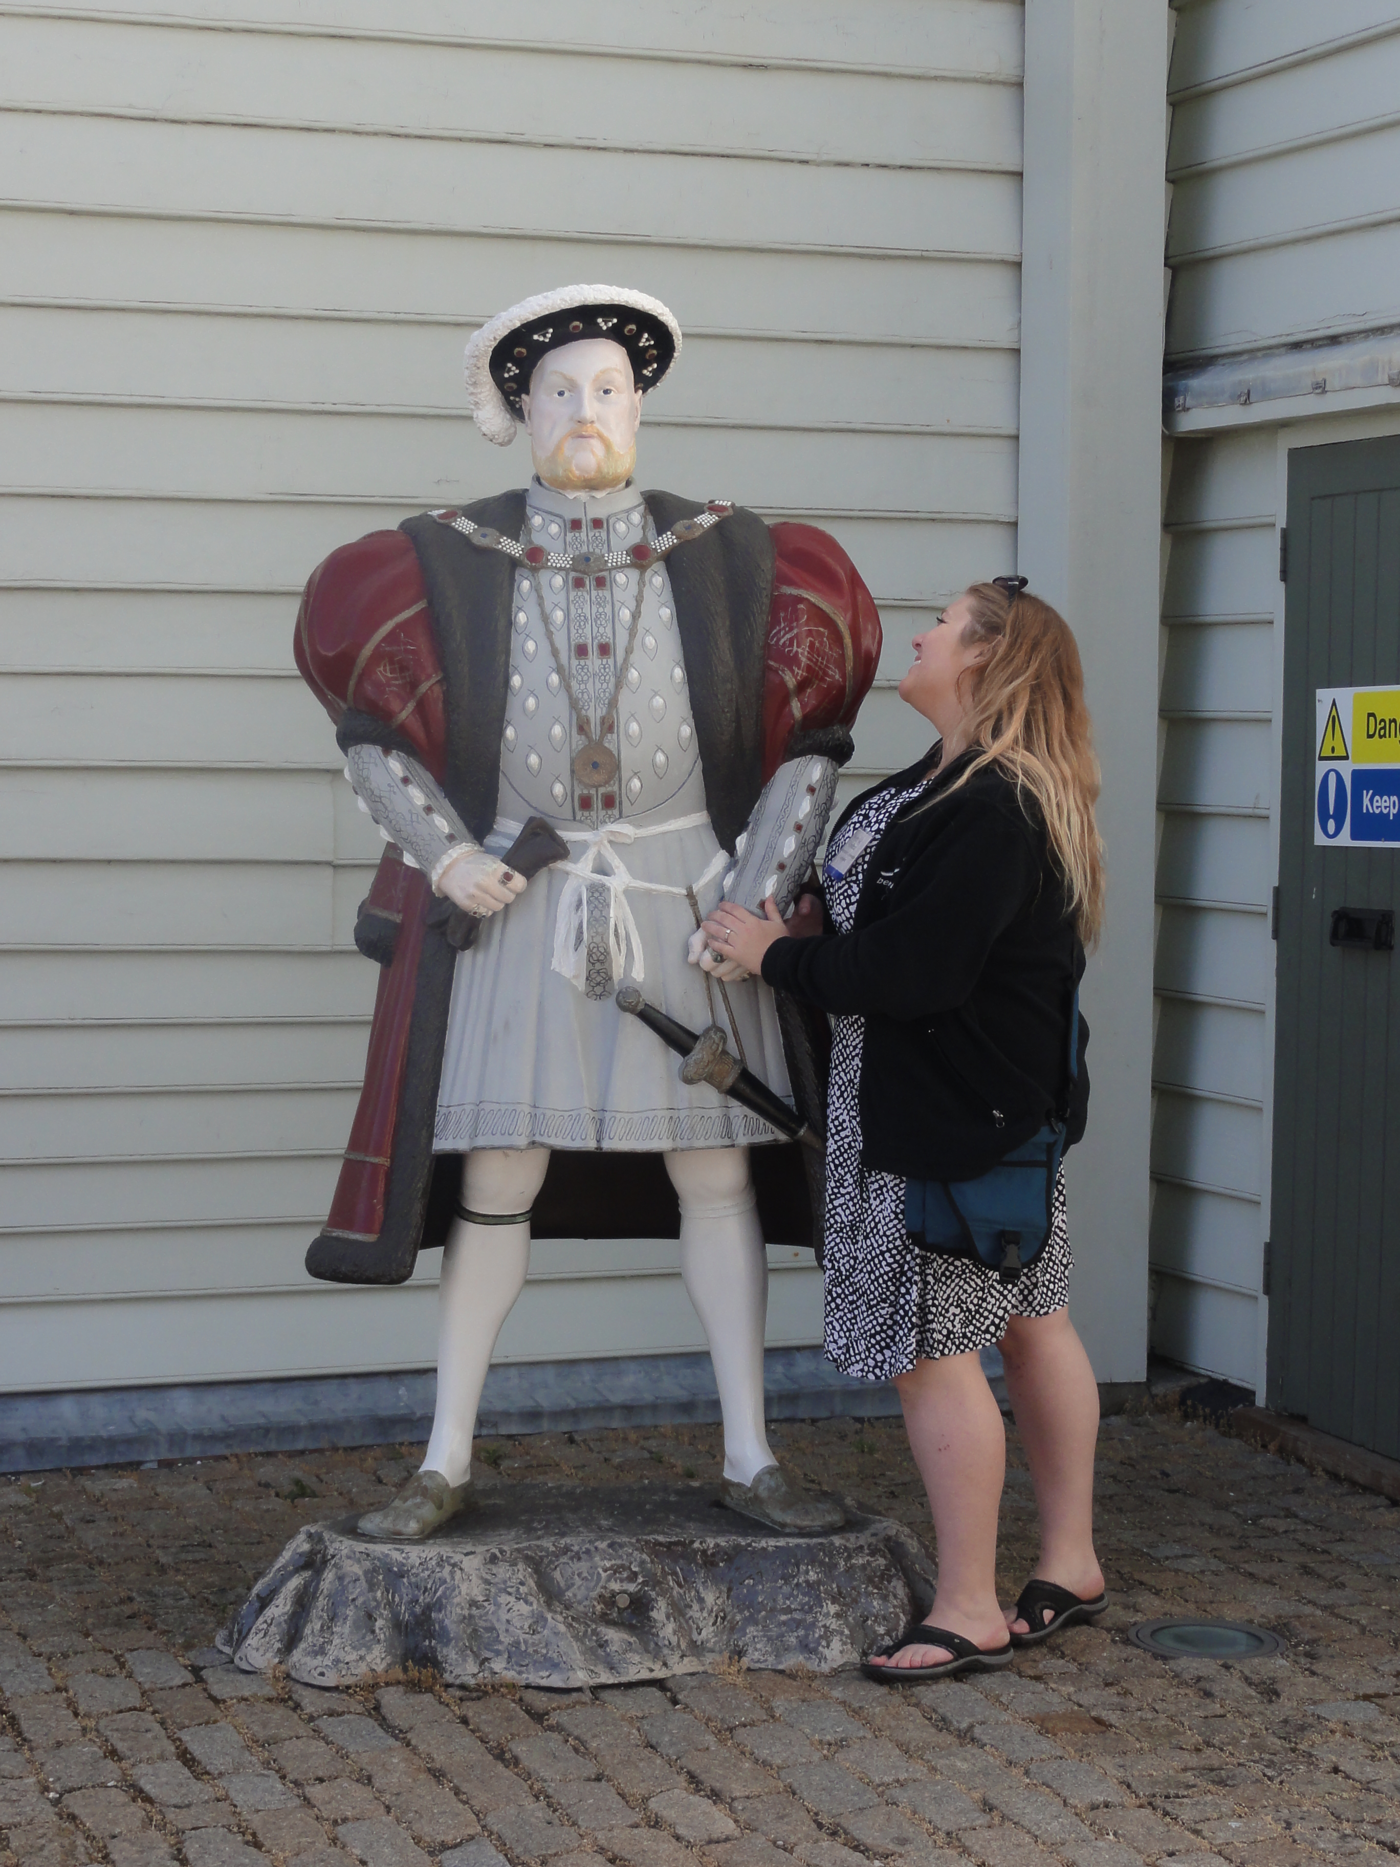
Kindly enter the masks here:
[[418, 553], [403, 532], [370, 532], [312, 571], [293, 652], [338, 730], [368, 737], [353, 732], [347, 715], [370, 715], [401, 734], [442, 779], [442, 668]]

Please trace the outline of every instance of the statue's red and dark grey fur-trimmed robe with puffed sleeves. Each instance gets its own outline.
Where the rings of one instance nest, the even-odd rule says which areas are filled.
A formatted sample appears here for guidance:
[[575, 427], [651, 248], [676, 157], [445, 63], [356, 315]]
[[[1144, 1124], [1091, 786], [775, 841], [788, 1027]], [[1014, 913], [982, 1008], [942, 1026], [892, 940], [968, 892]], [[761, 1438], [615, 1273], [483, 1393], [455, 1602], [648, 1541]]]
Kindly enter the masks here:
[[[674, 493], [644, 498], [657, 532], [706, 510]], [[463, 510], [519, 538], [525, 493]], [[849, 756], [849, 726], [879, 661], [879, 616], [833, 538], [808, 525], [769, 528], [745, 510], [672, 551], [666, 569], [706, 805], [734, 849], [784, 760]], [[334, 551], [297, 616], [297, 667], [342, 751], [373, 743], [422, 760], [478, 840], [497, 818], [513, 577], [513, 558], [424, 513]], [[306, 1255], [314, 1277], [403, 1283], [452, 1223], [461, 1158], [433, 1154], [457, 965], [441, 932], [444, 905], [420, 870], [385, 853], [355, 930], [383, 965], [364, 1090], [330, 1217]], [[799, 1109], [825, 1133], [825, 1019], [784, 999], [778, 1016]], [[765, 1236], [812, 1243], [812, 1150], [762, 1146], [750, 1161]], [[674, 1238], [678, 1228], [659, 1154], [556, 1152], [532, 1217], [536, 1238]]]

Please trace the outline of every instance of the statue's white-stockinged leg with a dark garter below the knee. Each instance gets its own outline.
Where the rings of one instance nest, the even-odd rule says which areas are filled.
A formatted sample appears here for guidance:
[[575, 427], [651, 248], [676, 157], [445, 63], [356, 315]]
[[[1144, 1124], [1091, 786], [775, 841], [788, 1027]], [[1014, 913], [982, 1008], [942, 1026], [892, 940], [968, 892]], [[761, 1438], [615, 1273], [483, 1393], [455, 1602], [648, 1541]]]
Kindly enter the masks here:
[[500, 1326], [530, 1270], [530, 1206], [543, 1186], [549, 1148], [478, 1148], [467, 1156], [461, 1202], [469, 1212], [525, 1214], [519, 1225], [455, 1219], [442, 1247], [437, 1294], [437, 1406], [424, 1471], [463, 1484], [485, 1370]]

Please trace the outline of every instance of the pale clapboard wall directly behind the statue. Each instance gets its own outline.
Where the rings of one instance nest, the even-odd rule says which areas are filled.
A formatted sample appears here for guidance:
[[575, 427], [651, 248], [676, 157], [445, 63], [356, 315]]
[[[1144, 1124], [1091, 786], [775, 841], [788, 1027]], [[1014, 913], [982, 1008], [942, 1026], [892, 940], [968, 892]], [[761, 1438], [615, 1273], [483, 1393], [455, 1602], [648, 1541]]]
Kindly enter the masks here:
[[[377, 838], [291, 665], [336, 543], [525, 484], [469, 330], [575, 278], [685, 355], [638, 476], [827, 525], [907, 637], [1014, 568], [1002, 0], [0, 4], [0, 1387], [433, 1361], [312, 1283]], [[819, 1339], [773, 1253], [771, 1341]], [[698, 1348], [674, 1245], [536, 1247], [500, 1354]]]

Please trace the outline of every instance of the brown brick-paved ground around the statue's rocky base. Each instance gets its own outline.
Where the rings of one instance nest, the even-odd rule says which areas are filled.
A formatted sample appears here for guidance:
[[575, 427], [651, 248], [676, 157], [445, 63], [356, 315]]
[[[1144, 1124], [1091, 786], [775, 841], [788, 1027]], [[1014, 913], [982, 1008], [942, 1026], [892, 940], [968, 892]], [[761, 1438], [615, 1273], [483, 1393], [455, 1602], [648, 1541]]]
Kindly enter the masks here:
[[[928, 1533], [896, 1423], [782, 1428], [806, 1473]], [[497, 1441], [493, 1482], [717, 1471], [713, 1428]], [[974, 1682], [743, 1673], [616, 1692], [314, 1692], [215, 1663], [310, 1518], [413, 1451], [0, 1481], [0, 1858], [24, 1867], [1137, 1867], [1400, 1852], [1393, 1505], [1176, 1415], [1105, 1423], [1114, 1606]], [[1012, 1439], [1004, 1596], [1032, 1553]], [[1163, 1662], [1157, 1613], [1286, 1654]], [[872, 1628], [872, 1637], [887, 1630]]]

